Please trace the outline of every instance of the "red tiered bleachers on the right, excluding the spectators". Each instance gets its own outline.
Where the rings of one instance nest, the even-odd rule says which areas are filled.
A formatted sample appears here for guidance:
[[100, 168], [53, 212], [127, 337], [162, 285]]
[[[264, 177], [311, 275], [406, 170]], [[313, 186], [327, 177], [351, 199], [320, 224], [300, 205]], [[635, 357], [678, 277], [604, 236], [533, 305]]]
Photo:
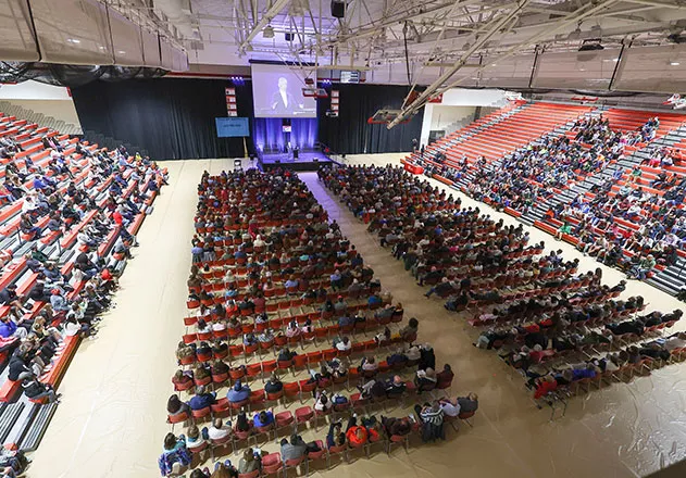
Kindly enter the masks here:
[[[533, 105], [528, 105], [527, 108], [523, 108], [522, 111], [511, 114], [511, 116], [502, 121], [501, 124], [507, 128], [510, 118], [516, 118], [535, 106], [545, 110], [546, 108], [550, 108], [550, 104], [534, 103]], [[517, 108], [522, 106], [520, 105]], [[494, 192], [489, 194], [481, 191], [478, 186], [476, 188], [472, 188], [471, 181], [473, 180], [472, 178], [475, 176], [475, 173], [477, 176], [488, 176], [490, 173], [484, 172], [494, 172], [502, 176], [506, 169], [502, 168], [502, 161], [500, 159], [489, 159], [488, 155], [484, 154], [485, 151], [481, 149], [478, 142], [474, 143], [472, 155], [467, 154], [466, 165], [463, 161], [454, 161], [456, 154], [460, 158], [465, 154], [465, 148], [469, 148], [470, 138], [465, 139], [462, 144], [458, 144], [457, 147], [453, 144], [447, 151], [444, 151], [444, 154], [446, 155], [445, 161], [441, 161], [439, 158], [439, 161], [435, 162], [433, 161], [435, 155], [425, 152], [424, 155], [413, 153], [410, 158], [404, 160], [403, 163], [423, 165], [426, 167], [426, 174], [433, 176], [435, 179], [460, 189], [465, 193], [472, 193], [476, 199], [502, 209], [504, 212], [515, 217], [521, 217], [525, 224], [532, 224], [552, 235], [556, 235], [557, 230], [562, 225], [562, 219], [570, 223], [572, 227], [575, 227], [578, 224], [578, 217], [573, 217], [569, 214], [565, 214], [565, 217], [559, 216], [558, 213], [562, 211], [562, 205], [573, 202], [579, 193], [586, 197], [586, 202], [594, 200], [596, 196], [595, 188], [603, 185], [603, 183], [609, 180], [611, 176], [612, 184], [608, 187], [607, 194], [610, 198], [613, 198], [618, 194], [620, 188], [627, 184], [631, 168], [638, 165], [643, 174], [640, 178], [633, 181], [631, 186], [640, 186], [644, 193], [653, 194], [660, 199], [663, 198], [665, 191], [651, 187], [651, 181], [656, 179], [656, 175], [661, 171], [664, 171], [678, 177], [686, 172], [686, 168], [679, 166], [678, 163], [673, 166], [662, 166], [659, 168], [645, 164], [645, 162], [650, 159], [651, 154], [658, 154], [659, 149], [663, 151], [665, 148], [674, 151], [673, 156], [676, 158], [676, 161], [678, 162], [679, 153], [677, 148], [678, 144], [684, 141], [684, 137], [677, 131], [681, 131], [681, 128], [685, 123], [684, 115], [678, 113], [656, 113], [650, 111], [624, 110], [619, 108], [584, 108], [585, 111], [579, 111], [579, 114], [584, 113], [590, 117], [601, 116], [602, 118], [609, 121], [610, 128], [613, 131], [620, 131], [623, 135], [636, 134], [636, 131], [640, 130], [648, 121], [656, 116], [660, 118], [660, 125], [656, 129], [654, 138], [650, 142], [638, 142], [624, 146], [623, 155], [620, 156], [619, 161], [607, 162], [603, 164], [602, 168], [591, 171], [590, 174], [576, 174], [567, 180], [565, 186], [546, 187], [546, 185], [539, 184], [531, 177], [512, 177], [511, 179], [514, 185], [519, 183], [521, 186], [522, 181], [526, 181], [531, 185], [527, 188], [523, 188], [522, 196], [517, 198], [516, 202], [512, 203], [510, 203], [510, 201], [513, 200], [513, 197], [501, 196], [501, 191], [499, 190], [497, 192], [494, 190]], [[491, 113], [490, 116], [497, 117], [499, 114], [504, 115], [504, 112], [495, 112]], [[529, 125], [523, 123], [521, 127], [527, 128]], [[467, 128], [472, 128], [472, 126], [470, 125]], [[517, 130], [519, 128], [513, 127], [513, 129]], [[486, 130], [497, 131], [501, 135], [501, 137], [510, 136], [510, 133], [506, 134], [502, 128], [497, 129], [496, 125], [486, 128]], [[453, 135], [459, 136], [460, 131], [457, 131]], [[571, 124], [567, 124], [565, 127], [559, 127], [558, 125], [557, 127], [548, 128], [548, 135], [551, 137], [565, 135], [573, 141], [575, 133], [571, 129]], [[529, 139], [532, 144], [538, 143], [538, 138]], [[512, 143], [507, 151], [497, 152], [496, 156], [508, 155], [524, 146], [525, 144], [515, 146]], [[433, 150], [427, 149], [427, 151]], [[484, 158], [481, 159], [479, 164], [474, 172], [473, 158], [475, 155], [483, 155]], [[684, 169], [684, 172], [681, 169]], [[618, 172], [619, 176], [614, 175], [615, 172]], [[494, 183], [501, 184], [502, 178], [500, 176]], [[532, 199], [526, 199], [527, 197], [532, 197]], [[647, 214], [641, 214], [641, 217], [647, 221], [647, 218], [652, 215], [651, 213], [657, 213], [660, 210], [661, 204], [652, 204], [650, 202], [647, 202], [646, 204], [648, 204], [650, 209], [648, 209]], [[677, 205], [676, 207], [681, 209], [681, 205]], [[556, 211], [556, 216], [553, 217], [547, 213], [549, 211]], [[626, 217], [621, 216], [613, 216], [613, 221], [609, 224], [604, 224], [603, 222], [601, 222], [601, 227], [587, 228], [589, 234], [585, 236], [585, 240], [593, 240], [595, 237], [607, 235], [609, 234], [610, 228], [612, 228], [613, 237], [620, 238], [624, 241], [626, 240], [625, 238], [632, 237], [632, 235], [634, 235], [640, 226], [639, 222], [632, 222]], [[578, 235], [564, 234], [562, 235], [562, 239], [577, 246], [579, 238]], [[583, 247], [583, 244], [579, 247]], [[683, 265], [681, 261], [686, 259], [686, 251], [684, 251], [681, 246], [677, 247], [677, 249], [676, 254], [678, 257], [674, 257], [671, 254], [663, 255], [661, 251], [653, 252], [657, 264], [654, 266], [654, 271], [646, 275], [651, 284], [661, 287], [671, 293], [678, 292], [679, 287], [686, 284], [686, 277], [682, 277], [679, 272], [681, 269], [676, 271]], [[622, 252], [624, 259], [619, 261], [618, 265], [626, 268], [627, 272], [631, 272], [632, 268], [636, 266], [636, 263], [640, 261], [640, 255], [635, 255], [636, 251], [631, 251], [626, 248], [624, 248]], [[668, 252], [670, 251], [668, 250]], [[634, 257], [634, 262], [632, 262], [632, 257]], [[674, 266], [674, 269], [670, 271], [670, 266]], [[668, 274], [666, 276], [664, 274], [660, 275], [660, 273], [664, 272]], [[636, 274], [638, 273], [632, 273], [632, 275]], [[657, 277], [656, 274], [658, 274]]]

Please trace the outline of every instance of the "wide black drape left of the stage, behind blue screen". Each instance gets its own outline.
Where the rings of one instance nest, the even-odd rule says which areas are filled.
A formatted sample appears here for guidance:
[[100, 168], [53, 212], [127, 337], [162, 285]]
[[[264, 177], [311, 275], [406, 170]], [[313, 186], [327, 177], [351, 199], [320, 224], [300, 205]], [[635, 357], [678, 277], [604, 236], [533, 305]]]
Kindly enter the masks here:
[[[222, 79], [93, 81], [72, 89], [82, 127], [148, 150], [151, 158], [241, 158], [242, 138], [217, 138], [226, 116]], [[252, 87], [237, 86], [238, 116], [252, 117]], [[251, 131], [252, 133], [252, 131]], [[247, 138], [248, 151], [252, 140]]]

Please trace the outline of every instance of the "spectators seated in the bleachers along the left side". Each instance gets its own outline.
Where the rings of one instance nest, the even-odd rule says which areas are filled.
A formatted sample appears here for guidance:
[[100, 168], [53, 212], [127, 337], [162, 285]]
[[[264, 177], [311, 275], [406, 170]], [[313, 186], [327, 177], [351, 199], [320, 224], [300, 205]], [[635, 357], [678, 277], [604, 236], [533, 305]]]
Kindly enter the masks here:
[[119, 265], [137, 246], [135, 232], [166, 173], [123, 147], [109, 152], [36, 125], [3, 136], [0, 156], [1, 234], [5, 244], [18, 236], [3, 251], [0, 277], [0, 357], [8, 365], [0, 400], [23, 390], [33, 402], [54, 402], [52, 386], [78, 338], [93, 335], [111, 306]]

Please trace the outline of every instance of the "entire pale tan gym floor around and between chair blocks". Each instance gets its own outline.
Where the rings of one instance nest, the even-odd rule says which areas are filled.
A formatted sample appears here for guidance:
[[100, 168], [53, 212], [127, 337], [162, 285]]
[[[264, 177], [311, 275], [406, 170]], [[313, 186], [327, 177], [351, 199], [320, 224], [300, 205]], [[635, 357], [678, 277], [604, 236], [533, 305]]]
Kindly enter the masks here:
[[[397, 164], [400, 158], [364, 155], [348, 161]], [[104, 317], [97, 338], [82, 344], [66, 372], [60, 387], [62, 404], [35, 453], [30, 477], [159, 476], [157, 458], [170, 430], [165, 405], [172, 393], [170, 377], [176, 369], [174, 350], [185, 331], [182, 317], [196, 186], [204, 169], [230, 169], [233, 160], [179, 161], [165, 166], [171, 185], [141, 228], [141, 246], [115, 297], [119, 305]], [[549, 422], [549, 411], [535, 408], [520, 376], [494, 353], [471, 345], [475, 330], [447, 313], [442, 301], [426, 300], [400, 263], [329, 196], [314, 173], [301, 177], [374, 268], [384, 289], [403, 303], [406, 317], [420, 319], [420, 340], [434, 345], [437, 363], [452, 364], [453, 394], [475, 391], [481, 403], [474, 428], [463, 426], [459, 433], [450, 430], [444, 443], [413, 448], [409, 454], [396, 450], [391, 457], [378, 453], [322, 475], [610, 478], [646, 476], [686, 457], [686, 365], [575, 398], [566, 417]], [[469, 198], [463, 198], [463, 204], [475, 205]], [[500, 215], [491, 212], [491, 216]], [[540, 239], [562, 249], [565, 256], [578, 256], [583, 271], [598, 266], [567, 244], [532, 229], [532, 240]], [[622, 278], [607, 267], [603, 276], [607, 284]], [[626, 295], [638, 293], [646, 298], [648, 310], [683, 305], [649, 286], [629, 282]], [[677, 329], [684, 326], [678, 324]], [[310, 435], [305, 439], [315, 438]], [[324, 435], [320, 428], [316, 438]], [[276, 450], [276, 444], [265, 448]]]

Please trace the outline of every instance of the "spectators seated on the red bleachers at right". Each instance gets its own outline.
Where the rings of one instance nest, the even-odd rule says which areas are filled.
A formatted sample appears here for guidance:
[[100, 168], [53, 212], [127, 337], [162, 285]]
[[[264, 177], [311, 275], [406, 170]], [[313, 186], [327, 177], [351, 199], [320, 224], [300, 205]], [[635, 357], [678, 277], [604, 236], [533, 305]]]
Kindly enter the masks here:
[[[541, 200], [552, 199], [574, 181], [588, 175], [602, 176], [606, 166], [623, 159], [626, 147], [645, 147], [656, 137], [658, 117], [635, 131], [610, 128], [608, 118], [576, 121], [565, 135], [544, 136], [527, 148], [503, 156], [497, 167], [484, 158], [470, 171], [466, 158], [457, 167], [440, 162], [424, 164], [449, 181], [467, 178], [465, 192], [497, 209], [526, 213]], [[681, 153], [666, 147], [653, 148], [644, 162], [662, 171], [641, 180], [643, 166], [595, 184], [591, 192], [578, 194], [570, 204], [560, 202], [546, 215], [558, 227], [558, 236], [585, 248], [611, 251], [600, 261], [625, 271], [631, 278], [645, 279], [657, 265], [674, 265], [686, 235], [681, 203], [686, 180], [665, 171], [681, 160]], [[440, 167], [437, 167], [439, 164]]]

